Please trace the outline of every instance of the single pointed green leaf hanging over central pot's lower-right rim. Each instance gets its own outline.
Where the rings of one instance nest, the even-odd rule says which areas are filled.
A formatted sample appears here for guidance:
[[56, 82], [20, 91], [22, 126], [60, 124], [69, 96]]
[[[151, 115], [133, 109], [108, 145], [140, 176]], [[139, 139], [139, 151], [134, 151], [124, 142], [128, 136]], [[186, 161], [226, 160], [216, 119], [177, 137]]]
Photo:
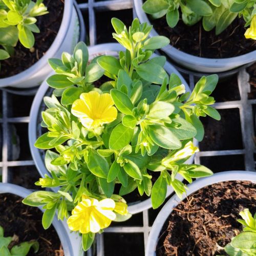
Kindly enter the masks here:
[[161, 174], [152, 187], [151, 202], [153, 209], [158, 208], [165, 200], [167, 183]]

